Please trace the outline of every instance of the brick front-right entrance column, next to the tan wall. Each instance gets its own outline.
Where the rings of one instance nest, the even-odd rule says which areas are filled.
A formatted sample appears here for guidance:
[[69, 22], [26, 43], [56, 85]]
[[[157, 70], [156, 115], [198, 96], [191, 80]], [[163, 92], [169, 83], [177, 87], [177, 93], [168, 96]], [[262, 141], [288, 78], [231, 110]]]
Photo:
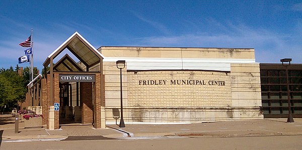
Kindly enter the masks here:
[[101, 128], [101, 75], [96, 74], [94, 99], [94, 128]]

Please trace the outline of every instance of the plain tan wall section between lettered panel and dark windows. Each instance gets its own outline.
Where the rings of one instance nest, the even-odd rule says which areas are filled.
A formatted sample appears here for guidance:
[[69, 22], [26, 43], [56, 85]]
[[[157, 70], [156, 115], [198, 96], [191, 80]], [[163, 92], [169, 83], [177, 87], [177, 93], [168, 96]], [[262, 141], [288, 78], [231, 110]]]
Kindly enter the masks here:
[[233, 107], [254, 107], [258, 110], [234, 111], [237, 119], [263, 118], [260, 113], [261, 85], [259, 63], [231, 64]]

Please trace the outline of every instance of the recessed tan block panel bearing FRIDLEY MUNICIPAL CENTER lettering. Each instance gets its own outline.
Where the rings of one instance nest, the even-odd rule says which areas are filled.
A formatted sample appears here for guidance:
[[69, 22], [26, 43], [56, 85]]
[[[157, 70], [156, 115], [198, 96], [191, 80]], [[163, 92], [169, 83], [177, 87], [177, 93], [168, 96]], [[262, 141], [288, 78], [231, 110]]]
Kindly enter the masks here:
[[[213, 71], [128, 72], [128, 106], [230, 107], [230, 80], [228, 73]], [[163, 85], [147, 85], [148, 81]], [[222, 81], [224, 85], [212, 85], [212, 81]]]

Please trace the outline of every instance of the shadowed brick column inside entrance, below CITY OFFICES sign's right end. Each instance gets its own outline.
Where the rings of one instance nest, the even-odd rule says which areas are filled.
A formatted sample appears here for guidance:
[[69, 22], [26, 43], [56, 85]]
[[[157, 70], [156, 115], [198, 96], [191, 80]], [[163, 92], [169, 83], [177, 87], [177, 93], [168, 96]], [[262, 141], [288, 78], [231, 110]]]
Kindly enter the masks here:
[[80, 83], [82, 124], [93, 122], [92, 83]]

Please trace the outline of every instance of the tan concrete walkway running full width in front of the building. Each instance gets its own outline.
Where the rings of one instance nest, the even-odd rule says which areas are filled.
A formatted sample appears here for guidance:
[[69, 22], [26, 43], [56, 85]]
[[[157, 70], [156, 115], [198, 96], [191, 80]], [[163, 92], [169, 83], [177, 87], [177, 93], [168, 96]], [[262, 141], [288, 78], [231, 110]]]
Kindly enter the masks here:
[[[164, 138], [181, 136], [204, 137], [240, 137], [240, 136], [273, 136], [302, 135], [302, 119], [295, 123], [286, 123], [286, 119], [240, 120], [192, 124], [127, 124], [125, 128], [118, 125], [107, 125], [106, 129], [95, 129], [92, 125], [69, 124], [59, 130], [44, 128], [24, 128], [19, 123], [19, 133], [15, 133], [15, 118], [11, 115], [0, 115], [0, 142], [110, 138]], [[68, 137], [68, 138], [67, 138]], [[81, 138], [80, 138], [81, 139]], [[85, 138], [82, 138], [85, 139]]]

